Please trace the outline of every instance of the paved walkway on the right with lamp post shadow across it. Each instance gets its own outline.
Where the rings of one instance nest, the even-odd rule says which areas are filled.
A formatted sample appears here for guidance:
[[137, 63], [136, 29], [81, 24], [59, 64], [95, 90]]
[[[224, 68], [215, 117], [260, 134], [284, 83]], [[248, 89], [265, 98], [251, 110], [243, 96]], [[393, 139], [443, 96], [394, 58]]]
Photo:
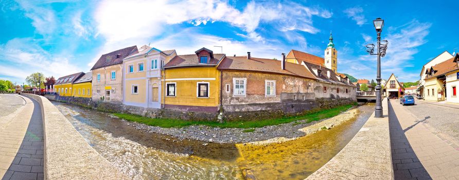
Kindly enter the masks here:
[[392, 160], [395, 179], [459, 179], [459, 149], [442, 140], [403, 109], [389, 104]]

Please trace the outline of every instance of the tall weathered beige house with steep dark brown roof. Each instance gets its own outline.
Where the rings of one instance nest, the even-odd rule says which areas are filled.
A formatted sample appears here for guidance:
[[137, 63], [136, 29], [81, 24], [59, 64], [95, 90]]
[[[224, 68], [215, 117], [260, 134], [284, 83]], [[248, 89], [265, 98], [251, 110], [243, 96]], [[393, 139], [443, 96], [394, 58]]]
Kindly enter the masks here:
[[92, 98], [111, 103], [122, 103], [122, 60], [138, 53], [137, 46], [119, 49], [102, 55], [91, 68], [93, 73]]

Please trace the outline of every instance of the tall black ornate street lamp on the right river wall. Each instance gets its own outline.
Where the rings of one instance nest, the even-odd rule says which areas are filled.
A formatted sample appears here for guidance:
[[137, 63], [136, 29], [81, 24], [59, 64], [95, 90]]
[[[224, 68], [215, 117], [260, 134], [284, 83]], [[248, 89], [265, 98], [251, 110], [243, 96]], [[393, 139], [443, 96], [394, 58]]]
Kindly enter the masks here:
[[377, 34], [377, 52], [374, 53], [375, 51], [375, 45], [374, 44], [367, 44], [365, 47], [367, 48], [366, 51], [369, 53], [369, 55], [377, 55], [378, 56], [378, 67], [377, 67], [377, 73], [376, 73], [376, 106], [375, 106], [375, 117], [376, 118], [382, 118], [382, 105], [381, 105], [381, 57], [384, 57], [386, 55], [386, 50], [387, 50], [387, 40], [383, 40], [381, 42], [381, 31], [382, 28], [384, 27], [384, 20], [378, 17], [376, 20], [373, 20], [373, 25], [375, 26], [376, 29], [376, 34]]

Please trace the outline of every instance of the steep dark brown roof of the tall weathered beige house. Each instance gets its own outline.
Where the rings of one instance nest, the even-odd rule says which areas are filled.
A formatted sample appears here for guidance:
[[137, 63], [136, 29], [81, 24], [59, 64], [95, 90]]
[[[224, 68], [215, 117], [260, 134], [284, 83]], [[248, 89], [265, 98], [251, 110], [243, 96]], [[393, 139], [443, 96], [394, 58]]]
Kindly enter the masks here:
[[[123, 59], [134, 53], [138, 53], [137, 46], [126, 47], [123, 49], [106, 53], [105, 55], [100, 56], [99, 60], [97, 60], [96, 64], [94, 64], [91, 70], [115, 64], [122, 64]], [[117, 56], [118, 54], [120, 55], [119, 57]]]

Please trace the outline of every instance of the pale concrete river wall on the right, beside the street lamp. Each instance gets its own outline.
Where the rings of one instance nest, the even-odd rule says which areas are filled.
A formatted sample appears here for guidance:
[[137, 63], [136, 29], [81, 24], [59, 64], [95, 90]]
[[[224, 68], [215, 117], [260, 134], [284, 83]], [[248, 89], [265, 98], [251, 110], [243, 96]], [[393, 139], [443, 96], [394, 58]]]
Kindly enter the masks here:
[[383, 118], [373, 115], [336, 156], [307, 179], [394, 179], [387, 99]]

